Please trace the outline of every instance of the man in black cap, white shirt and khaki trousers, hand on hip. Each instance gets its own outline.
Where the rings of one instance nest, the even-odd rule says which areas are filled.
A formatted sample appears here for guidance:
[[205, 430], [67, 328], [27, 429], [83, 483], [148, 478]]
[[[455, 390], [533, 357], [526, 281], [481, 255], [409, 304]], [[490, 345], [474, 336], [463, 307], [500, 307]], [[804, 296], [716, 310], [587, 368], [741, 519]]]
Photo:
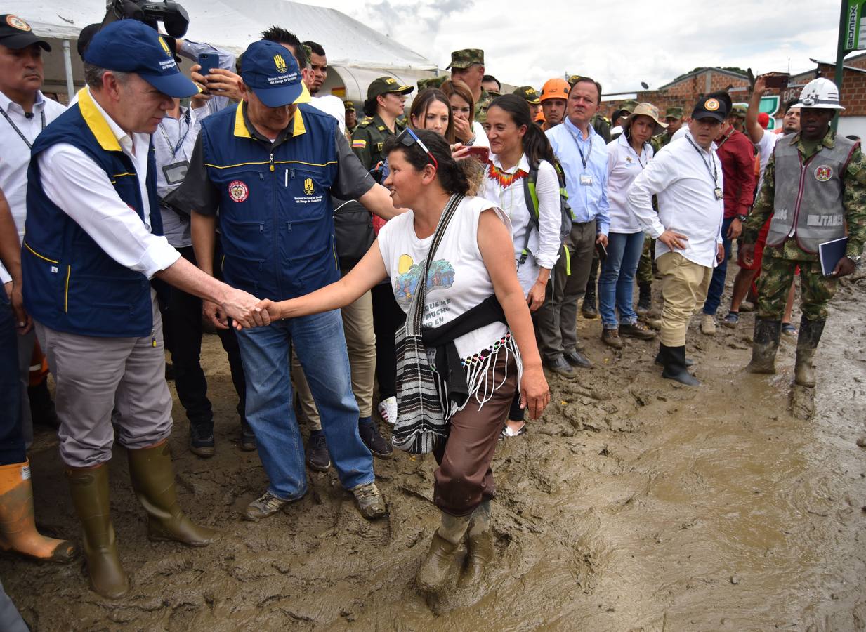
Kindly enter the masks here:
[[[713, 268], [725, 251], [721, 162], [714, 139], [731, 109], [727, 93], [701, 98], [685, 138], [673, 140], [631, 184], [628, 205], [644, 232], [656, 239], [662, 273], [662, 377], [700, 384], [687, 370], [688, 320], [707, 298]], [[652, 196], [658, 197], [658, 213]]]

